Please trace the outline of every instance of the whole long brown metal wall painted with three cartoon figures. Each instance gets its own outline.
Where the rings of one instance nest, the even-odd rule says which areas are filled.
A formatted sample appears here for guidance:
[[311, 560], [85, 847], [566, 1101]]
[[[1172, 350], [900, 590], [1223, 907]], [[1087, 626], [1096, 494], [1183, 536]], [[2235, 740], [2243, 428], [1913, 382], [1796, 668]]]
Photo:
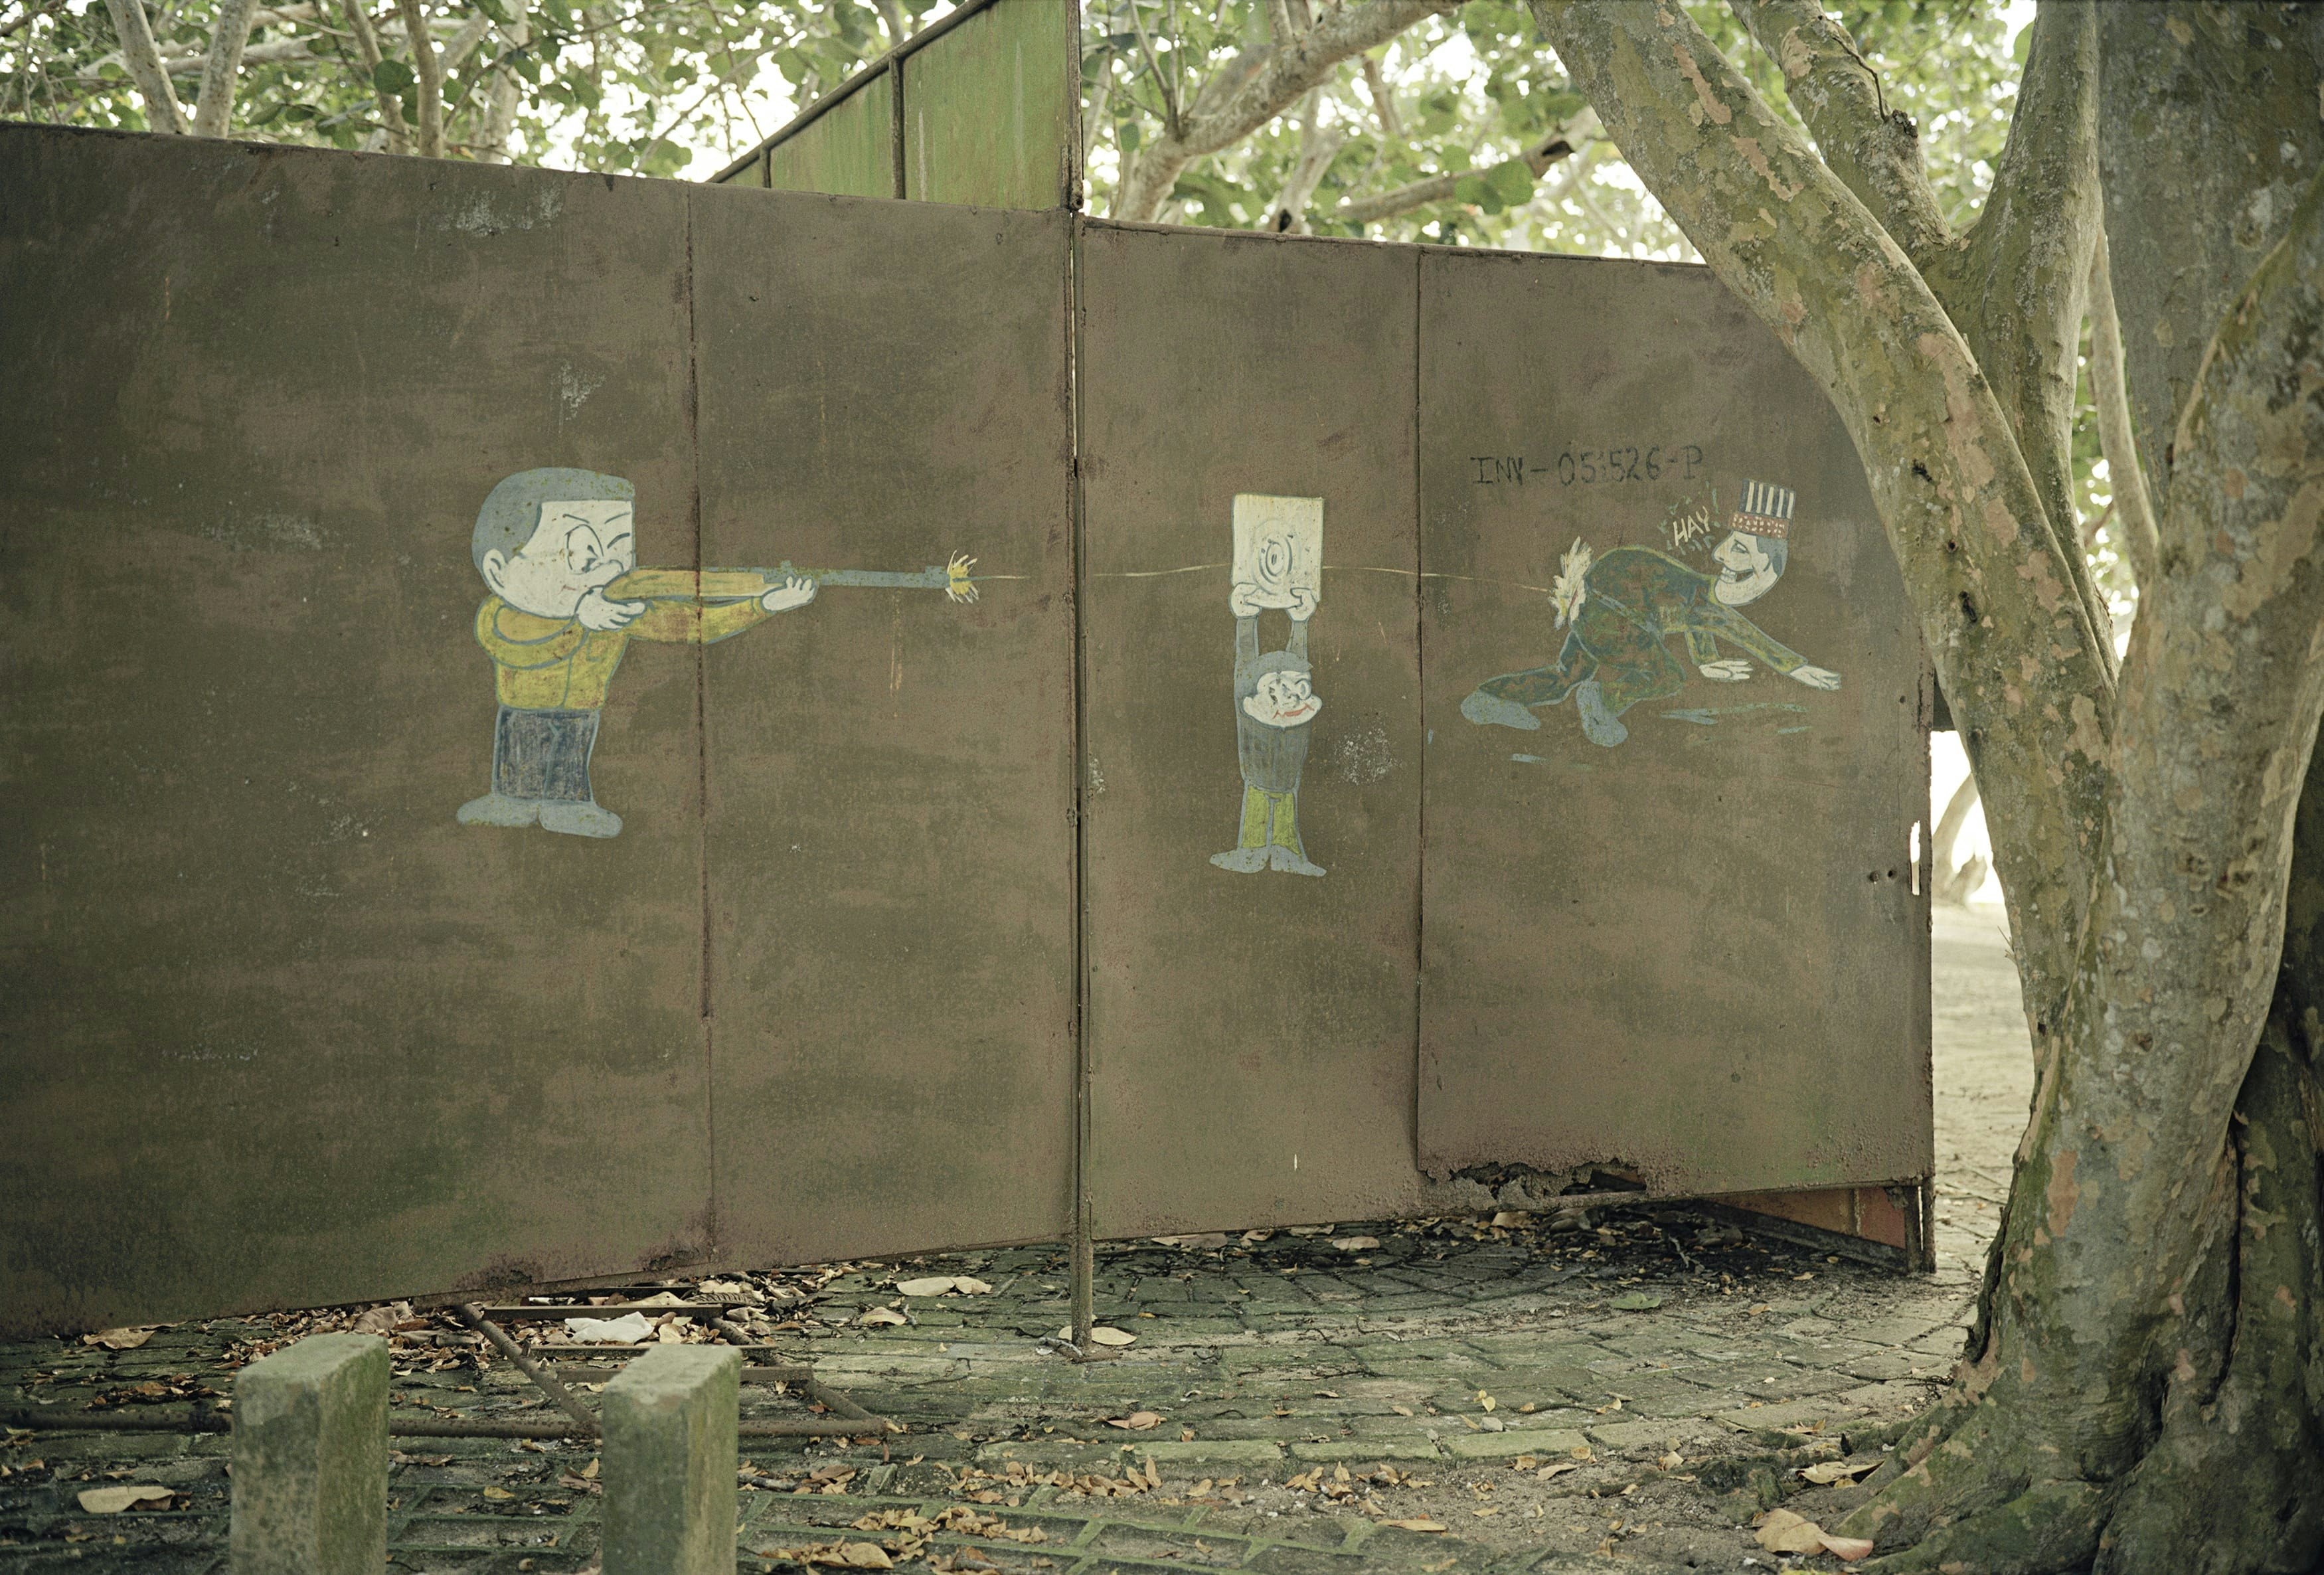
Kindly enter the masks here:
[[[1917, 643], [1699, 269], [44, 128], [0, 193], [0, 1329], [1055, 1238], [1083, 987], [1104, 1234], [1927, 1173]], [[632, 639], [618, 836], [456, 822], [535, 467], [686, 588], [839, 571]], [[1699, 569], [1745, 479], [1843, 688], [1464, 715], [1576, 537]], [[1248, 873], [1236, 495], [1322, 499]]]

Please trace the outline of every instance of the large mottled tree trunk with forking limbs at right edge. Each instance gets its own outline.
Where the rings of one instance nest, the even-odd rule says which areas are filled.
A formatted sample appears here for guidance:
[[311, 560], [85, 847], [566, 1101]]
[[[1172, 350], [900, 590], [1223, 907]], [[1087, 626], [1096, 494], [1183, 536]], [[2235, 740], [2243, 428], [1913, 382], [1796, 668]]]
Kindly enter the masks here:
[[[2294, 811], [2324, 711], [2324, 19], [2043, 5], [1994, 197], [1950, 237], [1920, 223], [1915, 144], [1850, 125], [1862, 65], [1822, 9], [1734, 5], [1829, 167], [1680, 7], [1536, 16], [1857, 441], [1971, 746], [2043, 1066], [1968, 1354], [1848, 1531], [1878, 1538], [1880, 1570], [2308, 1570], [2324, 804], [2301, 811], [2298, 876]], [[2208, 137], [2212, 116], [2243, 125]], [[2161, 499], [2119, 678], [2059, 513], [2101, 123], [2136, 149], [2106, 202]], [[2173, 179], [2143, 230], [2126, 193]]]

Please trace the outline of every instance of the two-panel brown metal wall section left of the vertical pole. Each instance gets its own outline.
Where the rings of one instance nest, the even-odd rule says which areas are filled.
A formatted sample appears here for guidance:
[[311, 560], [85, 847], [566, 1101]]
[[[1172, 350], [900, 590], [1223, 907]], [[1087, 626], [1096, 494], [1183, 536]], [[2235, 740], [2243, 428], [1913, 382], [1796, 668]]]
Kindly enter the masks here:
[[[0, 186], [0, 1329], [1064, 1229], [1064, 218], [26, 125]], [[646, 564], [1006, 578], [632, 646], [621, 836], [456, 825], [537, 465]]]

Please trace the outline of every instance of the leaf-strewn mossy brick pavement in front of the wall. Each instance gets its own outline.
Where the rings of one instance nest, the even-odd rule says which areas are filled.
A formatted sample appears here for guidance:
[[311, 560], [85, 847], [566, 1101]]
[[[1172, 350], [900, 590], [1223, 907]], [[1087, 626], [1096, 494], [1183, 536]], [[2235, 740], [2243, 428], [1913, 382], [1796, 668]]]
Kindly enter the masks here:
[[[1060, 1247], [702, 1282], [755, 1299], [741, 1315], [753, 1333], [906, 1429], [746, 1438], [737, 1568], [1838, 1568], [1762, 1549], [1748, 1522], [1785, 1494], [1810, 1519], [1843, 1512], [1864, 1489], [1806, 1487], [1799, 1468], [1878, 1461], [1875, 1429], [1920, 1405], [1959, 1354], [2029, 1087], [1999, 945], [1989, 920], [1941, 925], [1934, 1275], [1690, 1206], [1122, 1243], [1099, 1254], [1097, 1310], [1134, 1340], [1092, 1361], [1048, 1340], [1067, 1322]], [[897, 1289], [925, 1275], [990, 1292]], [[881, 1308], [906, 1322], [867, 1324]], [[121, 1352], [9, 1345], [0, 1398], [207, 1403], [253, 1354], [351, 1319], [181, 1324]], [[544, 1410], [467, 1340], [449, 1319], [400, 1333], [397, 1410]], [[753, 1385], [744, 1415], [799, 1403]], [[586, 1447], [407, 1438], [388, 1489], [390, 1566], [588, 1570], [593, 1477]], [[172, 1498], [79, 1508], [84, 1489], [114, 1482]], [[12, 1431], [0, 1573], [225, 1575], [225, 1501], [216, 1433]]]

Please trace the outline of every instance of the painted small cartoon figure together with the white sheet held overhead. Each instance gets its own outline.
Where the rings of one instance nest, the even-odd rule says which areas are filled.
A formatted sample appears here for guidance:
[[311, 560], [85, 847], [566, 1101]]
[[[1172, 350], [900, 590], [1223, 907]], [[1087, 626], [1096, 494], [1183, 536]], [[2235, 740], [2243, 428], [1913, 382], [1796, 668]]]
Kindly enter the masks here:
[[[1243, 876], [1262, 869], [1320, 876], [1299, 841], [1299, 771], [1308, 725], [1322, 711], [1308, 667], [1308, 620], [1322, 604], [1322, 499], [1234, 499], [1234, 755], [1243, 769], [1241, 834], [1211, 862]], [[1260, 650], [1260, 613], [1290, 613], [1283, 650]]]

